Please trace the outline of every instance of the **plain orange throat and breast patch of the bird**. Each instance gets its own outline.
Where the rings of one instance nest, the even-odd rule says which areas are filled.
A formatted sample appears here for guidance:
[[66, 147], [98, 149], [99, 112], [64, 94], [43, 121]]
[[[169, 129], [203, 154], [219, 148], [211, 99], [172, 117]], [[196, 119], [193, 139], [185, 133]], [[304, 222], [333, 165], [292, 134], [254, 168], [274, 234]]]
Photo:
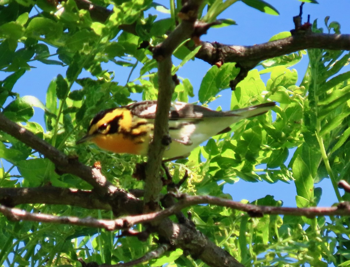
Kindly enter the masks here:
[[145, 155], [148, 148], [146, 138], [124, 138], [123, 134], [98, 135], [91, 139], [100, 148], [114, 153], [129, 153], [135, 155]]

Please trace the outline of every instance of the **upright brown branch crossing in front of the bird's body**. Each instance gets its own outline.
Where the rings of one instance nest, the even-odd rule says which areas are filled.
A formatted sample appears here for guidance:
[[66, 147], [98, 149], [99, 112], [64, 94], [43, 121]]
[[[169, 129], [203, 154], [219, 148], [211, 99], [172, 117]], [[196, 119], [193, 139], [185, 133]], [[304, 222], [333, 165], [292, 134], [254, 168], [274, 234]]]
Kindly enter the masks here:
[[[159, 176], [162, 156], [165, 149], [165, 141], [169, 141], [168, 136], [168, 120], [170, 101], [175, 89], [175, 84], [172, 79], [173, 63], [171, 55], [175, 48], [184, 40], [188, 39], [194, 31], [194, 25], [197, 19], [198, 7], [202, 0], [189, 0], [182, 9], [181, 13], [186, 19], [183, 19], [168, 38], [157, 45], [153, 51], [153, 57], [158, 61], [158, 102], [154, 121], [153, 141], [148, 149], [148, 161], [146, 166], [146, 181], [144, 201], [149, 203], [159, 202], [159, 193], [162, 190], [162, 182]], [[151, 205], [151, 206], [150, 206]]]

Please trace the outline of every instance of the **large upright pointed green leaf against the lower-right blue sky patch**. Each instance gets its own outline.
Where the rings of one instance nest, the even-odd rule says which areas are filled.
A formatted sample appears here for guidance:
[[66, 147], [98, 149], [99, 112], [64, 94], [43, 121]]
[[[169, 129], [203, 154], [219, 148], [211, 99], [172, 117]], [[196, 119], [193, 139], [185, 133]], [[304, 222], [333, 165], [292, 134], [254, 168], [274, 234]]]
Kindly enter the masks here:
[[311, 202], [314, 196], [314, 180], [311, 176], [309, 166], [306, 165], [300, 155], [296, 157], [292, 170], [298, 196]]

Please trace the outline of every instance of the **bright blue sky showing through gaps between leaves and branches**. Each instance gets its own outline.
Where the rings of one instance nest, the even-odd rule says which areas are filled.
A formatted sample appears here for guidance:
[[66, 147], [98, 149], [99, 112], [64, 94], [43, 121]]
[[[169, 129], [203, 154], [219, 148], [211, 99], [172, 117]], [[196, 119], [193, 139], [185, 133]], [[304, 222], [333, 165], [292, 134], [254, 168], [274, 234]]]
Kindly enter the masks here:
[[[227, 9], [219, 18], [229, 18], [236, 21], [238, 25], [210, 29], [207, 35], [202, 36], [204, 41], [217, 41], [225, 44], [232, 45], [254, 45], [257, 43], [266, 42], [269, 38], [279, 32], [288, 31], [294, 27], [293, 16], [299, 13], [300, 1], [297, 0], [266, 0], [269, 4], [273, 5], [279, 12], [279, 16], [268, 15], [259, 12], [251, 7], [246, 6], [242, 2], [237, 2], [235, 5]], [[303, 8], [303, 22], [307, 19], [307, 14], [311, 16], [311, 22], [318, 19], [318, 26], [324, 28], [325, 16], [330, 16], [330, 21], [335, 20], [341, 24], [342, 33], [350, 33], [349, 14], [350, 1], [349, 0], [320, 0], [320, 4], [308, 4], [306, 3]], [[154, 12], [154, 11], [150, 11]], [[159, 14], [159, 18], [165, 18], [167, 14]], [[52, 50], [54, 51], [54, 50]], [[179, 62], [177, 62], [178, 64]], [[175, 61], [176, 64], [176, 61]], [[299, 74], [299, 81], [301, 81], [303, 74], [307, 68], [308, 59], [304, 57], [303, 60], [293, 68], [297, 69]], [[45, 102], [45, 93], [49, 82], [52, 78], [56, 77], [59, 73], [65, 76], [66, 68], [54, 65], [43, 65], [40, 62], [32, 62], [32, 66], [36, 68], [27, 71], [23, 75], [18, 83], [16, 83], [13, 91], [19, 93], [21, 96], [34, 95], [42, 102]], [[116, 77], [114, 81], [118, 81], [123, 85], [126, 82], [126, 78], [130, 69], [116, 66], [113, 63], [107, 63], [104, 65], [106, 69], [114, 70]], [[200, 87], [201, 80], [204, 74], [211, 66], [201, 60], [196, 59], [190, 61], [182, 67], [177, 73], [182, 78], [188, 78], [194, 87], [194, 92], [197, 94]], [[349, 70], [349, 68], [347, 68]], [[344, 70], [346, 71], [346, 70]], [[5, 74], [5, 75], [4, 75]], [[7, 73], [0, 73], [0, 80], [6, 77]], [[134, 71], [132, 78], [138, 77], [137, 69]], [[80, 77], [88, 76], [87, 72], [84, 72]], [[266, 81], [269, 74], [262, 76], [262, 79]], [[132, 79], [131, 79], [132, 80]], [[79, 89], [78, 85], [72, 88]], [[227, 110], [230, 107], [230, 102], [227, 99], [231, 97], [231, 91], [225, 90], [221, 93], [221, 98], [211, 104], [211, 108], [215, 109], [221, 105], [223, 110]], [[196, 101], [194, 97], [193, 101]], [[135, 100], [139, 100], [136, 99]], [[35, 115], [33, 121], [43, 122], [43, 112], [35, 109]], [[9, 165], [7, 164], [7, 168]], [[14, 173], [13, 173], [14, 174]], [[323, 194], [321, 198], [321, 206], [330, 206], [336, 202], [336, 197], [332, 191], [332, 186], [329, 179], [324, 179], [319, 185], [323, 188]], [[284, 206], [295, 206], [296, 190], [294, 183], [290, 184], [278, 182], [276, 184], [268, 184], [266, 182], [247, 183], [240, 180], [233, 185], [226, 185], [225, 192], [232, 194], [234, 200], [248, 199], [250, 201], [262, 198], [267, 194], [275, 196], [276, 200], [283, 200]]]

